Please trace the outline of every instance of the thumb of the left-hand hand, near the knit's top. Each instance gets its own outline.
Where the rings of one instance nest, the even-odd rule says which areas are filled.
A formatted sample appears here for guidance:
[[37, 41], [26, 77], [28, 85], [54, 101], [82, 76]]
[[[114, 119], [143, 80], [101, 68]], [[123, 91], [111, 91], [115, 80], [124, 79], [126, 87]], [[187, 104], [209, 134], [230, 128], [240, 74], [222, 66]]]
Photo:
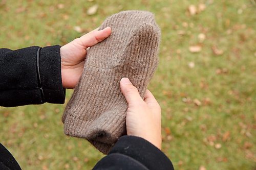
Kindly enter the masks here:
[[106, 27], [103, 30], [95, 29], [86, 35], [80, 37], [80, 41], [84, 48], [93, 46], [98, 42], [103, 41], [105, 38], [109, 37], [111, 34], [111, 28]]

